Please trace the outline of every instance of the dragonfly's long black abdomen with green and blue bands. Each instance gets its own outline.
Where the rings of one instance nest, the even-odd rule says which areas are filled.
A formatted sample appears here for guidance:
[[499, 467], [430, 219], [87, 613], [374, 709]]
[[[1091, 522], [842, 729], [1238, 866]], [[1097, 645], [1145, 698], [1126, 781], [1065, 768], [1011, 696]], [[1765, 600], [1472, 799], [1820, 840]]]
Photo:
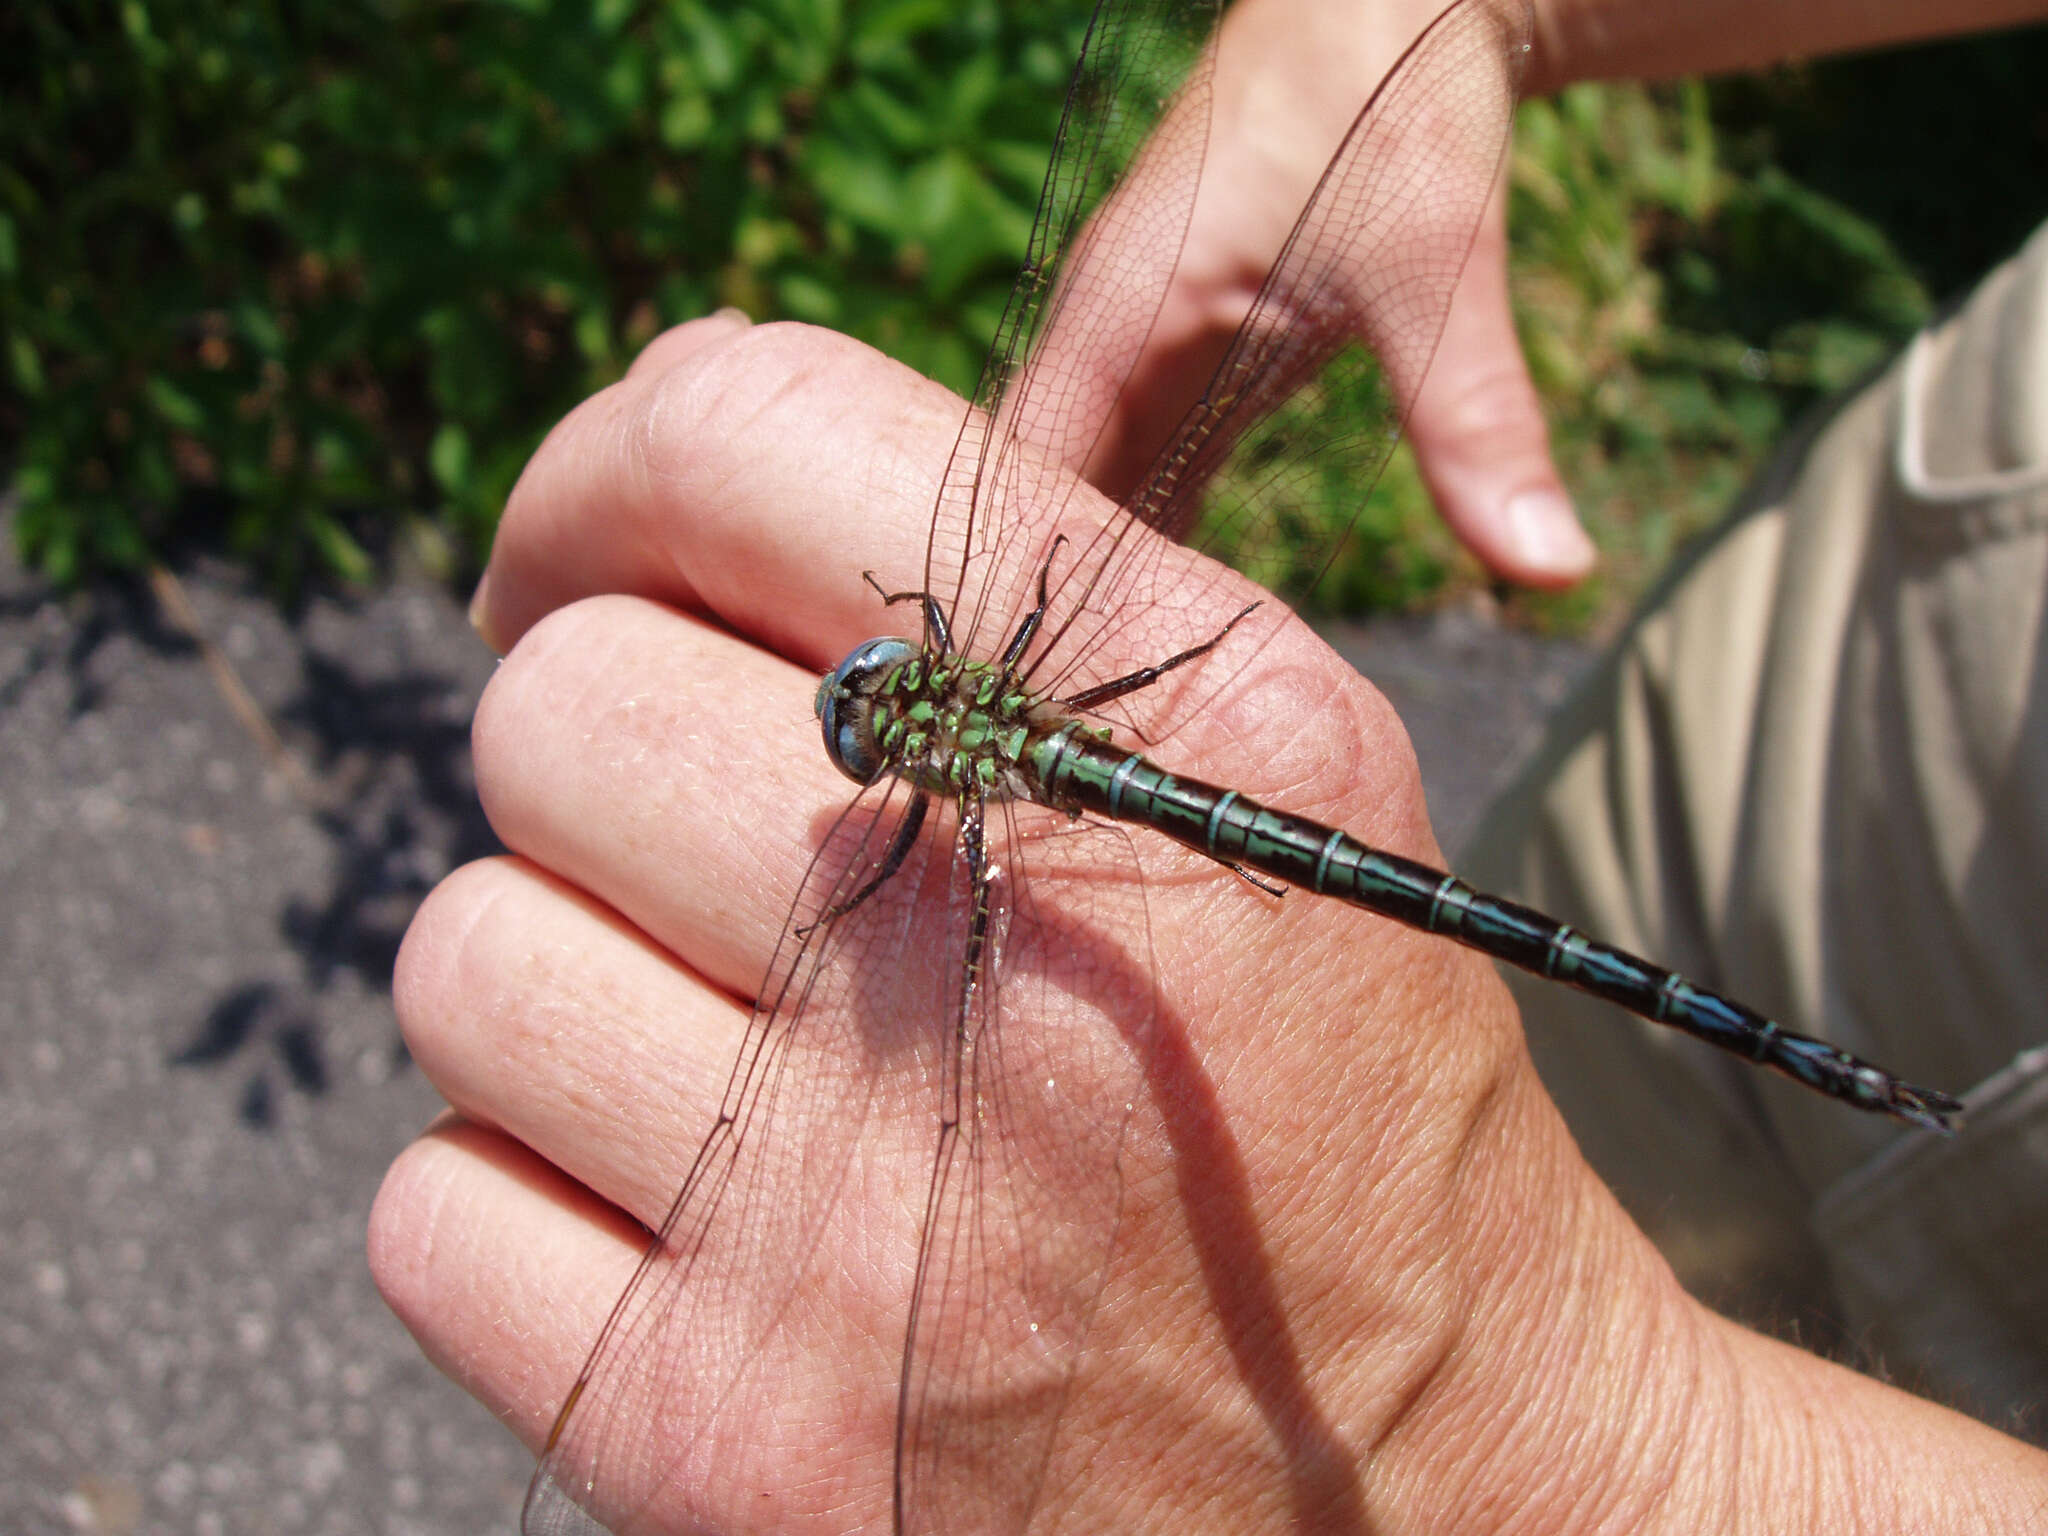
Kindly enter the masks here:
[[1133, 821], [1225, 864], [1331, 895], [1483, 954], [1669, 1024], [1722, 1051], [1864, 1110], [1935, 1130], [1954, 1128], [1962, 1106], [1915, 1087], [1825, 1040], [1774, 1024], [1686, 977], [1599, 944], [1569, 924], [1477, 891], [1454, 874], [1372, 848], [1339, 827], [1274, 811], [1247, 795], [1182, 778], [1139, 752], [1090, 735], [1079, 721], [1032, 733], [1024, 772], [1036, 799], [1065, 811]]

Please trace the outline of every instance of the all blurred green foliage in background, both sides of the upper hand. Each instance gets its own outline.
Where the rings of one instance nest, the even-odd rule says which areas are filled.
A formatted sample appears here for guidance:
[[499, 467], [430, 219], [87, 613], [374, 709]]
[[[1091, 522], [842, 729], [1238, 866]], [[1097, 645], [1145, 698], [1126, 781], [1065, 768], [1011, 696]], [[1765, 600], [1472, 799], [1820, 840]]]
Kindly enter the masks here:
[[[291, 590], [367, 575], [428, 516], [473, 563], [541, 434], [721, 303], [969, 389], [1090, 8], [10, 8], [0, 438], [25, 549], [74, 580], [197, 539]], [[1532, 612], [1632, 592], [1929, 291], [2017, 244], [2048, 186], [2044, 43], [1524, 106], [1518, 315], [1610, 582]], [[1346, 410], [1311, 391], [1260, 453]], [[1280, 541], [1315, 549], [1356, 487], [1288, 496]], [[1397, 455], [1319, 596], [1477, 580]]]

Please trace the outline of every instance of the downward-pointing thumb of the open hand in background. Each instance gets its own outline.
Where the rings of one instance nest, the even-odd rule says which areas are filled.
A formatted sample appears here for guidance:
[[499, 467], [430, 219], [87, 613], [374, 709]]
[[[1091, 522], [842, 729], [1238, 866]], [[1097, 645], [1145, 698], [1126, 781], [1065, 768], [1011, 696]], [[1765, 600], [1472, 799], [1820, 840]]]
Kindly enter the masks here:
[[1597, 551], [1550, 463], [1550, 432], [1507, 309], [1499, 186], [1409, 416], [1409, 442], [1444, 520], [1487, 569], [1540, 588], [1571, 586], [1593, 569]]

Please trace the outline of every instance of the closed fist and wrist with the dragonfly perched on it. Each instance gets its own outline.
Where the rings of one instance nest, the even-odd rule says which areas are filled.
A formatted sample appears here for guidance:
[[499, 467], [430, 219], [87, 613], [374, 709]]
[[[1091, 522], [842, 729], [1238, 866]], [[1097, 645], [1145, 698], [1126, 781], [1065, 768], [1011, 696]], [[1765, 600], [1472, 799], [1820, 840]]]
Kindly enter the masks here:
[[[426, 1352], [530, 1446], [717, 1118], [791, 893], [848, 799], [817, 750], [817, 672], [887, 627], [854, 573], [920, 569], [956, 414], [850, 342], [713, 317], [563, 422], [508, 508], [477, 616], [512, 653], [477, 772], [512, 856], [451, 877], [408, 934], [399, 1016], [455, 1116], [393, 1165], [371, 1262]], [[1174, 766], [1434, 858], [1384, 700], [1292, 618], [1219, 672]], [[1989, 1432], [1686, 1300], [1579, 1161], [1483, 961], [1272, 903], [1145, 834], [1098, 901], [1104, 848], [1032, 844], [1044, 911], [1061, 893], [1118, 924], [1012, 930], [1001, 1020], [1018, 1061], [1094, 1051], [1057, 1067], [1075, 1102], [1130, 1090], [1100, 1305], [1077, 1354], [940, 1382], [977, 1448], [1057, 1423], [1042, 1479], [1004, 1468], [1036, 1487], [1042, 1528], [1696, 1530], [1710, 1509], [1735, 1530], [1718, 1516], [1784, 1497], [1774, 1473], [1890, 1497], [1917, 1468], [1946, 1487], [1987, 1464], [1958, 1440]], [[1147, 997], [1139, 1038], [1092, 1010], [1116, 956]], [[793, 1057], [778, 1145], [848, 1178], [799, 1178], [819, 1196], [805, 1241], [692, 1276], [694, 1311], [645, 1335], [678, 1366], [623, 1425], [639, 1438], [608, 1493], [651, 1491], [647, 1528], [887, 1524], [938, 1151], [918, 1038], [938, 1022], [883, 1020], [883, 1047], [856, 1010], [821, 1024], [821, 1059]], [[827, 1075], [844, 1102], [819, 1098]], [[1042, 1108], [1004, 1106], [1006, 1135], [1042, 1137]], [[721, 1231], [750, 1198], [768, 1194], [735, 1190]], [[764, 1329], [774, 1348], [731, 1376], [692, 1374]], [[1053, 1380], [1028, 1391], [1040, 1366]], [[1933, 1425], [1915, 1417], [1905, 1448], [1872, 1430], [1915, 1413]], [[958, 1477], [987, 1497], [977, 1470]]]

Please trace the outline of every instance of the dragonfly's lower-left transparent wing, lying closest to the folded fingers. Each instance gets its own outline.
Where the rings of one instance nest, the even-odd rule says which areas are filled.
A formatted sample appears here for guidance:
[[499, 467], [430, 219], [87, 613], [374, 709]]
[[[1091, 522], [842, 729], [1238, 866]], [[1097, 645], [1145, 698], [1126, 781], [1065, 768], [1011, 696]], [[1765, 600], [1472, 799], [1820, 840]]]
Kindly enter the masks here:
[[[940, 1008], [940, 969], [920, 956], [948, 942], [918, 887], [944, 836], [928, 831], [895, 877], [838, 911], [883, 870], [907, 803], [901, 780], [868, 786], [813, 858], [719, 1120], [557, 1417], [524, 1536], [709, 1528], [733, 1509], [784, 1530], [834, 1528], [850, 1501], [823, 1489], [829, 1479], [807, 1489], [823, 1509], [770, 1509], [760, 1489], [788, 1485], [801, 1454], [838, 1462], [870, 1444], [883, 1464], [901, 1290], [854, 1341], [858, 1309], [823, 1315], [817, 1298], [868, 1294], [850, 1253], [915, 1251], [903, 1212], [928, 1155], [901, 1139], [932, 1137], [938, 1063], [924, 1040]], [[838, 1391], [862, 1346], [864, 1395]], [[793, 1423], [815, 1440], [793, 1440]], [[887, 1487], [872, 1483], [879, 1524]]]

